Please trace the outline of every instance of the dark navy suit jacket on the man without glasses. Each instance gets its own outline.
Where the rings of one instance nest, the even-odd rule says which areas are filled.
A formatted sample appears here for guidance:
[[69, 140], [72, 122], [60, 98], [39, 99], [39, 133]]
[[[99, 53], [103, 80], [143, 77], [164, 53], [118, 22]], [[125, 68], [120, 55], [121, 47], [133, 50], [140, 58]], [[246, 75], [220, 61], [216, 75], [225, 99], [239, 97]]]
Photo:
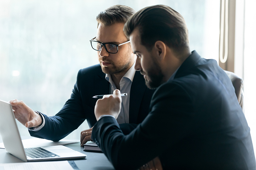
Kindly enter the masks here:
[[113, 117], [102, 117], [92, 139], [116, 169], [138, 169], [157, 156], [168, 170], [256, 167], [250, 128], [229, 77], [195, 51], [174, 80], [156, 89], [136, 129], [124, 135]]

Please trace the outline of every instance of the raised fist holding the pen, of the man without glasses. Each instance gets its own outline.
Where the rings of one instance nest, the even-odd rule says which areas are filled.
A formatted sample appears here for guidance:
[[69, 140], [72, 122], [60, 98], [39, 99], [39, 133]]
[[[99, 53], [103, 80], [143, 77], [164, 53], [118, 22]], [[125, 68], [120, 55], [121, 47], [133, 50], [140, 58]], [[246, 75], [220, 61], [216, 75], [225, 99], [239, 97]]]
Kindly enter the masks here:
[[121, 110], [121, 101], [121, 94], [117, 89], [113, 91], [113, 95], [104, 95], [102, 99], [98, 99], [94, 108], [97, 121], [101, 115], [112, 115], [116, 119]]

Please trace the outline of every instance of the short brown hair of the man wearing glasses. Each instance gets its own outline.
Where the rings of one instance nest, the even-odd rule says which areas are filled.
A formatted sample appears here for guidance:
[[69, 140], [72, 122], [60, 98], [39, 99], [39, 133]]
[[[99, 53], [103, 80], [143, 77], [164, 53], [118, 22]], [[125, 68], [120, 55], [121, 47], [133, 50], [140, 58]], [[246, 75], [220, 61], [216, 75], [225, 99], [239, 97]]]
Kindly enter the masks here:
[[101, 11], [97, 16], [96, 20], [99, 24], [103, 26], [110, 26], [115, 23], [125, 23], [136, 11], [125, 5], [114, 5], [104, 11]]

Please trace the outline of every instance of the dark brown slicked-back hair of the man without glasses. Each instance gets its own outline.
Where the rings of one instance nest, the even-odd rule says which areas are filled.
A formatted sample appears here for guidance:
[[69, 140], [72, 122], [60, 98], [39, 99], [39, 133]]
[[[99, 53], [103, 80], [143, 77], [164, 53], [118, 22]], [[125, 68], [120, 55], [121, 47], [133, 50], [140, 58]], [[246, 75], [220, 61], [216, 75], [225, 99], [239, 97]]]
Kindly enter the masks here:
[[155, 5], [138, 11], [125, 23], [124, 34], [129, 38], [136, 28], [139, 29], [141, 44], [148, 51], [156, 41], [163, 41], [177, 54], [189, 49], [185, 20], [169, 6]]

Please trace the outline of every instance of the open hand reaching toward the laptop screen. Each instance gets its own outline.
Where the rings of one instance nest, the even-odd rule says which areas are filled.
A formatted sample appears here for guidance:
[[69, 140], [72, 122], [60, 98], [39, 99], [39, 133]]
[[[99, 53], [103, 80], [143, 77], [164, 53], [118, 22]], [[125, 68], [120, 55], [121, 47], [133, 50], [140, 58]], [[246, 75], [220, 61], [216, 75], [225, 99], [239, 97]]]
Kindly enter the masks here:
[[12, 105], [15, 118], [24, 126], [29, 128], [36, 127], [41, 124], [42, 118], [23, 101], [14, 99], [9, 102]]

